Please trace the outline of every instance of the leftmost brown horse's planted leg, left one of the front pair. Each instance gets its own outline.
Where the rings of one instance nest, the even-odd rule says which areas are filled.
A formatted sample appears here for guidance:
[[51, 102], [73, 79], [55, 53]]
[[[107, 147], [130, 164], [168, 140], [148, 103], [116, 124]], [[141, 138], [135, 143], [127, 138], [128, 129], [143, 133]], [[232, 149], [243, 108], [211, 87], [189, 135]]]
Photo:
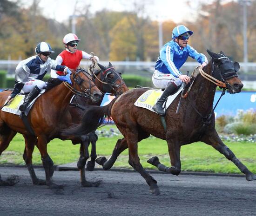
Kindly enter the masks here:
[[27, 170], [32, 179], [32, 182], [34, 185], [46, 185], [45, 180], [41, 180], [35, 175], [34, 167], [32, 164], [32, 154], [34, 151], [34, 146], [37, 142], [37, 138], [34, 136], [27, 136], [27, 135], [23, 135], [23, 137], [25, 138], [25, 144], [26, 144], [26, 147], [23, 153], [23, 159], [27, 165]]

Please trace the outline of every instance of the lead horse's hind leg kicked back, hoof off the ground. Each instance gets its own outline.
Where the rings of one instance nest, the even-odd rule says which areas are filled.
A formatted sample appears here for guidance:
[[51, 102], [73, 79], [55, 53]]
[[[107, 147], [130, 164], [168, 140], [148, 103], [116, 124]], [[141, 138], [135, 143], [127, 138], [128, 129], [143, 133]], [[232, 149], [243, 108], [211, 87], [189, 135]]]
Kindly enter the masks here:
[[112, 152], [111, 157], [107, 158], [106, 157], [99, 157], [96, 159], [96, 163], [102, 165], [104, 170], [109, 170], [114, 164], [117, 159], [117, 157], [128, 148], [128, 144], [126, 141], [126, 138], [118, 139], [115, 148]]

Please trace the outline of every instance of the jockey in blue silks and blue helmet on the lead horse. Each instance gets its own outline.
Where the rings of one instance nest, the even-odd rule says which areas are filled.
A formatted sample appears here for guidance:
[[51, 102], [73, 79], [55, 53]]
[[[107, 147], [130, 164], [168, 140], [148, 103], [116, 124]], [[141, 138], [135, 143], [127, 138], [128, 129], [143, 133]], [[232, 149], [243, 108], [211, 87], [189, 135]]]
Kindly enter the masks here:
[[153, 84], [157, 88], [165, 88], [162, 96], [152, 107], [159, 115], [164, 115], [162, 105], [168, 96], [175, 93], [182, 82], [189, 83], [190, 78], [179, 71], [188, 57], [196, 59], [202, 67], [208, 63], [204, 54], [198, 53], [188, 45], [189, 36], [192, 34], [193, 32], [186, 26], [176, 26], [172, 31], [172, 40], [160, 50], [152, 77]]

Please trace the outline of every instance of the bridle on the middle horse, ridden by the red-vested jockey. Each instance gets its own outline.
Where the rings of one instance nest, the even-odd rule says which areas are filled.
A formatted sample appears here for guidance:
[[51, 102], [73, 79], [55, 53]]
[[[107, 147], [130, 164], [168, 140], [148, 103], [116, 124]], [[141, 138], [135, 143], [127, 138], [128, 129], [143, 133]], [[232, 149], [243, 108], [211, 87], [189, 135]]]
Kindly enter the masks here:
[[[94, 75], [95, 79], [98, 79], [99, 82], [101, 82], [103, 84], [103, 91], [101, 91], [102, 94], [106, 94], [106, 95], [115, 95], [115, 96], [119, 96], [121, 95], [122, 92], [122, 88], [121, 86], [124, 84], [123, 79], [121, 78], [121, 75], [115, 70], [114, 67], [109, 67], [107, 68], [105, 71], [101, 71], [101, 79], [99, 79], [97, 77], [98, 74], [95, 74], [93, 66], [90, 65], [90, 71], [92, 72], [92, 74]], [[108, 75], [114, 73], [114, 79], [109, 79]], [[120, 79], [121, 85], [117, 85], [115, 82]], [[120, 91], [117, 91], [116, 89], [120, 89]], [[114, 94], [111, 93], [107, 93], [107, 92], [112, 92], [114, 91]]]

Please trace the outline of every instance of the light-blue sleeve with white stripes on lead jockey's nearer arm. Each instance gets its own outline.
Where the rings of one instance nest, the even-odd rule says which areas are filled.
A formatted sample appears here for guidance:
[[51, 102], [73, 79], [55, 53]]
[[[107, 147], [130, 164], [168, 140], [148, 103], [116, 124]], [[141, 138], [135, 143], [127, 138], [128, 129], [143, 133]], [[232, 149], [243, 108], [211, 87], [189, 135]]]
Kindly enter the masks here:
[[168, 71], [175, 77], [179, 77], [182, 73], [177, 69], [173, 62], [174, 51], [171, 46], [164, 46], [160, 51], [160, 59], [167, 67]]

